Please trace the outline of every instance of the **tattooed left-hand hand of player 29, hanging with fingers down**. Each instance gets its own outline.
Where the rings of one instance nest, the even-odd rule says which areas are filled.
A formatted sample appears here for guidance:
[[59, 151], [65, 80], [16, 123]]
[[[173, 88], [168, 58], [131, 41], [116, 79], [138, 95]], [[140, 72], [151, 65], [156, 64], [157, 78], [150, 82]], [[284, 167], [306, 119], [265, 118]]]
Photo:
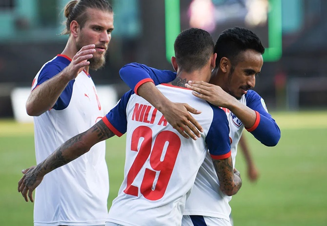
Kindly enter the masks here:
[[21, 177], [20, 181], [18, 182], [18, 192], [21, 192], [22, 196], [24, 197], [25, 201], [28, 202], [27, 198], [27, 191], [28, 197], [31, 202], [34, 202], [33, 199], [33, 191], [36, 187], [39, 186], [41, 183], [43, 176], [38, 178], [35, 166], [32, 166], [28, 169], [22, 170], [21, 173], [24, 175]]

